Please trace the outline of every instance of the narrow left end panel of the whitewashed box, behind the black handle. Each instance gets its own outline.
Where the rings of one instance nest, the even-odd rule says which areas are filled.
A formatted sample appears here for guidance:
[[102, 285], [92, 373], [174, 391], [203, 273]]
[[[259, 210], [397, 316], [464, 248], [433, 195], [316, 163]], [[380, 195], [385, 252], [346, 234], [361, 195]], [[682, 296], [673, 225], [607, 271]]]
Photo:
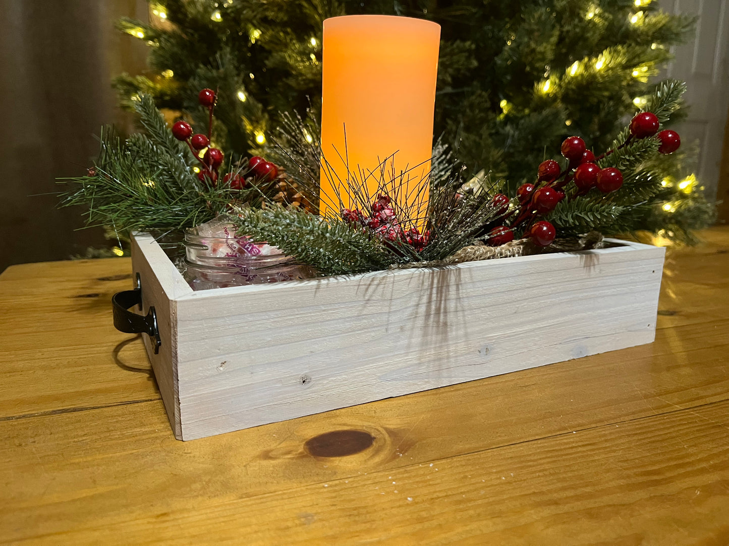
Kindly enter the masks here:
[[[165, 269], [168, 267], [165, 261], [172, 265], [152, 237], [132, 237], [132, 268], [135, 274], [139, 273], [141, 280], [143, 313], [147, 314], [149, 306], [155, 306], [157, 328], [162, 341], [160, 352], [155, 355], [152, 341], [149, 340], [149, 336], [143, 334], [144, 347], [147, 349], [149, 362], [152, 363], [157, 387], [160, 389], [172, 430], [175, 437], [181, 439], [176, 373], [176, 301], [171, 299], [163, 288]], [[160, 282], [160, 279], [163, 282]], [[170, 291], [169, 288], [167, 291]], [[133, 310], [139, 312], [138, 309]]]

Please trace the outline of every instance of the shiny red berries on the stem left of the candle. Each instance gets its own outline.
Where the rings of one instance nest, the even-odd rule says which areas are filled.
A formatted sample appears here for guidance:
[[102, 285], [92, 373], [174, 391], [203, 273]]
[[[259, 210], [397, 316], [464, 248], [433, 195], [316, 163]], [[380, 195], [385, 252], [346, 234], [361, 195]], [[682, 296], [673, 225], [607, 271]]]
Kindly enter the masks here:
[[[208, 108], [208, 134], [203, 135], [198, 132], [195, 135], [192, 134], [192, 126], [184, 121], [176, 122], [172, 126], [172, 134], [179, 141], [187, 142], [187, 146], [190, 146], [192, 155], [200, 162], [203, 169], [198, 173], [198, 178], [201, 181], [206, 179], [211, 182], [213, 186], [217, 184], [219, 178], [219, 167], [222, 165], [223, 156], [222, 151], [217, 148], [208, 148], [203, 154], [203, 159], [200, 159], [200, 150], [210, 146], [210, 138], [213, 127], [213, 111], [215, 108], [216, 100], [215, 92], [211, 89], [203, 89], [198, 94], [198, 102], [201, 106]], [[268, 182], [278, 176], [278, 168], [273, 163], [267, 162], [262, 157], [254, 156], [249, 159], [248, 162], [249, 173], [252, 173], [254, 178], [259, 181]], [[239, 173], [227, 173], [223, 177], [223, 183], [229, 184], [232, 189], [243, 189], [246, 186], [246, 178]]]

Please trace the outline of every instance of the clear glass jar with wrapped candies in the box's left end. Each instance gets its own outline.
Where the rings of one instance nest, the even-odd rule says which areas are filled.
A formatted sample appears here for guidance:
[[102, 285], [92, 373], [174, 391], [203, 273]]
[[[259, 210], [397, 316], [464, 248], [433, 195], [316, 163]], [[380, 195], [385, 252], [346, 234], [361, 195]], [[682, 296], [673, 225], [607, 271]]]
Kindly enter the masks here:
[[[229, 232], [226, 230], [225, 234]], [[309, 279], [316, 274], [267, 242], [249, 237], [184, 236], [184, 279], [192, 290]]]

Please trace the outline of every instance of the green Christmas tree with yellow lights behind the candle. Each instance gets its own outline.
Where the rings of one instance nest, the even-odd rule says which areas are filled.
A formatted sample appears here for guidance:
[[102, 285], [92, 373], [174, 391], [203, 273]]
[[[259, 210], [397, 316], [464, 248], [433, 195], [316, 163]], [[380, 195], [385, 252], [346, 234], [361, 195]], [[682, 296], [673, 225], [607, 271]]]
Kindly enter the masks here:
[[[378, 13], [439, 23], [435, 135], [471, 175], [504, 179], [510, 194], [570, 135], [607, 149], [652, 90], [650, 76], [686, 38], [689, 17], [650, 0], [336, 1], [168, 0], [152, 23], [123, 20], [147, 41], [151, 74], [117, 78], [128, 106], [146, 92], [157, 106], [204, 123], [198, 90], [217, 90], [219, 149], [265, 153], [281, 113], [321, 101], [321, 25], [327, 17]], [[674, 114], [672, 119], [677, 119]], [[663, 128], [663, 127], [662, 127]], [[689, 148], [689, 151], [686, 150]], [[713, 220], [684, 146], [652, 166], [663, 191], [639, 222], [677, 240]], [[554, 159], [557, 159], [554, 157]], [[477, 181], [476, 181], [477, 183]]]

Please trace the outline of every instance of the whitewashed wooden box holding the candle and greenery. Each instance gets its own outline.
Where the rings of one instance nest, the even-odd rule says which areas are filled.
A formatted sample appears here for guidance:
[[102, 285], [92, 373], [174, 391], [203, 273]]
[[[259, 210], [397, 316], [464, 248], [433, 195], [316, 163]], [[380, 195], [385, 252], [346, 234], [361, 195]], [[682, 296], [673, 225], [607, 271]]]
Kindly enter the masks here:
[[147, 234], [132, 263], [165, 408], [192, 440], [650, 343], [665, 249], [609, 241], [198, 292]]

